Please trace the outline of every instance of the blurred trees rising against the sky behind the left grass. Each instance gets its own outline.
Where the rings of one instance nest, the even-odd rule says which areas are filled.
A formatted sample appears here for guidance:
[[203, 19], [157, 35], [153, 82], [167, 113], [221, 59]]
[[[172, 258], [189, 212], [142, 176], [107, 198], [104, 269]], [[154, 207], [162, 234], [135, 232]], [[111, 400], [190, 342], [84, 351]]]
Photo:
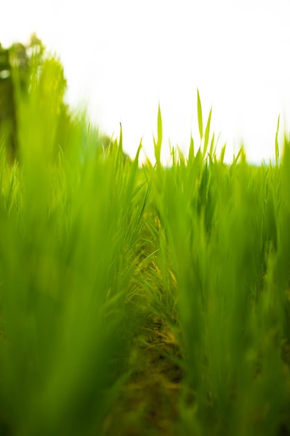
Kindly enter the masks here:
[[[29, 101], [36, 82], [37, 104], [47, 123], [47, 134], [55, 151], [61, 146], [65, 152], [78, 128], [77, 117], [64, 101], [67, 81], [63, 65], [55, 57], [47, 56], [42, 41], [33, 34], [26, 45], [16, 42], [4, 48], [0, 43], [0, 145], [5, 143], [12, 161], [19, 156], [21, 141], [19, 105]], [[23, 125], [25, 120], [22, 119]], [[37, 127], [35, 125], [35, 129]], [[106, 135], [99, 137], [95, 132], [95, 137], [98, 137], [99, 148], [107, 148], [111, 144]]]

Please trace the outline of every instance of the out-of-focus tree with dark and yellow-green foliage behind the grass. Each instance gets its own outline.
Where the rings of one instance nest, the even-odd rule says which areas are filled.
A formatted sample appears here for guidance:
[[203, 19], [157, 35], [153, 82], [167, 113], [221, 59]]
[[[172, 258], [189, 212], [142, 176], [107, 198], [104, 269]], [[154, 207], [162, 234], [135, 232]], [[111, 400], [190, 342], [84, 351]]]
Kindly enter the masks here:
[[[10, 160], [19, 159], [20, 150], [50, 158], [60, 147], [63, 152], [70, 148], [84, 119], [65, 104], [66, 88], [61, 61], [47, 54], [35, 34], [27, 45], [17, 42], [4, 49], [0, 44], [0, 146], [6, 144]], [[37, 126], [35, 132], [31, 132], [31, 120]], [[45, 137], [43, 149], [37, 130]], [[96, 151], [113, 148], [114, 141], [100, 135], [97, 128], [92, 130]]]

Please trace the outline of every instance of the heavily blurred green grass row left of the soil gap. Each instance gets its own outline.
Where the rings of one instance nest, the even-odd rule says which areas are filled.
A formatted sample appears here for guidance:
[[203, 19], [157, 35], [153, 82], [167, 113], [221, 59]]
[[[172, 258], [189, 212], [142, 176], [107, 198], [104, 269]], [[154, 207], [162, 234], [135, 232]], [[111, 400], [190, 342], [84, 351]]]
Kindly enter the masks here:
[[100, 434], [128, 372], [138, 159], [103, 154], [81, 118], [56, 154], [62, 83], [46, 60], [18, 95], [19, 162], [1, 145], [1, 434]]

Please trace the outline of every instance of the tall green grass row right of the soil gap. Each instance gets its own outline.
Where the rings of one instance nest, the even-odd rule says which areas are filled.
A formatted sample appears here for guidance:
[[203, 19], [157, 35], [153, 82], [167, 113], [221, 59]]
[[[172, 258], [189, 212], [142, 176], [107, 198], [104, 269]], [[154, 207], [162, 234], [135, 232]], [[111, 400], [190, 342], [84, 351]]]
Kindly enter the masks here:
[[[199, 94], [198, 123], [203, 139]], [[290, 429], [289, 143], [281, 166], [250, 166], [242, 150], [225, 166], [225, 148], [206, 157], [208, 137], [209, 127], [204, 150], [194, 156], [192, 142], [155, 192], [184, 350], [179, 431], [280, 434]]]

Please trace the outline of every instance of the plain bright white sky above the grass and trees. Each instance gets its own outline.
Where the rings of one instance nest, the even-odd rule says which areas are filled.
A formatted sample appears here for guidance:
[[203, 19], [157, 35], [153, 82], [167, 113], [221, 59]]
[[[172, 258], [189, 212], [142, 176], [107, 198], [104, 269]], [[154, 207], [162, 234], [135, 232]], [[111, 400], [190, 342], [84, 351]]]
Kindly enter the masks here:
[[[124, 149], [141, 137], [153, 159], [158, 104], [163, 157], [199, 145], [197, 88], [204, 118], [227, 157], [243, 141], [250, 162], [275, 157], [290, 120], [289, 0], [8, 0], [0, 42], [28, 42], [36, 32], [58, 54], [72, 105], [110, 137], [122, 123]], [[204, 125], [206, 120], [204, 120]]]

